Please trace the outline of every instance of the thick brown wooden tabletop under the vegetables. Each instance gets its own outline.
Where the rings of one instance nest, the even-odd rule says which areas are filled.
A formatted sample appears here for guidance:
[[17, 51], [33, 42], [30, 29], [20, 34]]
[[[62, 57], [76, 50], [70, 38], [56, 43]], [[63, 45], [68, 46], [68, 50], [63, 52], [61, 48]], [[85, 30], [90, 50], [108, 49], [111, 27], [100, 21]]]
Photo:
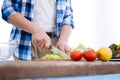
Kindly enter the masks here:
[[3, 61], [0, 79], [69, 77], [120, 73], [120, 62]]

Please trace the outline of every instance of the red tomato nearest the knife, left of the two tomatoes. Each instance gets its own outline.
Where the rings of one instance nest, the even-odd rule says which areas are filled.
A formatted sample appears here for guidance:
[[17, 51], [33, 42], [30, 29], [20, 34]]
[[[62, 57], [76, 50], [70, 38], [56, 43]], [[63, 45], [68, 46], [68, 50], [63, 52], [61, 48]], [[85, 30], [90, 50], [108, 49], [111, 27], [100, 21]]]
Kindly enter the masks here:
[[83, 53], [80, 50], [74, 50], [70, 53], [70, 58], [73, 61], [81, 60], [82, 56], [83, 56]]

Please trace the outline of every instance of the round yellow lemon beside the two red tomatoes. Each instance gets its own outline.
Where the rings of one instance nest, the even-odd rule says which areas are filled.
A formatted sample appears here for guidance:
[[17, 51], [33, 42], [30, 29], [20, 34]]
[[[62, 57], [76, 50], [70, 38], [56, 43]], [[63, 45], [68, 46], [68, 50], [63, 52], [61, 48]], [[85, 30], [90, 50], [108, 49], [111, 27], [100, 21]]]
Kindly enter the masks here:
[[112, 58], [112, 51], [108, 47], [101, 47], [97, 51], [98, 59], [101, 61], [109, 61]]

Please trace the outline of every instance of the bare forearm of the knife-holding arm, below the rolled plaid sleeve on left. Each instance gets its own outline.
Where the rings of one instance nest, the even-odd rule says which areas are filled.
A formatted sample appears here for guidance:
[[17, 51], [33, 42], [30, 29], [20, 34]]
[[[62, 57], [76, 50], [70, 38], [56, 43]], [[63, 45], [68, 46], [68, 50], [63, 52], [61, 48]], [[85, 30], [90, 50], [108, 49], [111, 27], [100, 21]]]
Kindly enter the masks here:
[[35, 31], [38, 30], [38, 27], [35, 24], [24, 18], [19, 13], [15, 13], [10, 16], [8, 22], [31, 34], [35, 33]]

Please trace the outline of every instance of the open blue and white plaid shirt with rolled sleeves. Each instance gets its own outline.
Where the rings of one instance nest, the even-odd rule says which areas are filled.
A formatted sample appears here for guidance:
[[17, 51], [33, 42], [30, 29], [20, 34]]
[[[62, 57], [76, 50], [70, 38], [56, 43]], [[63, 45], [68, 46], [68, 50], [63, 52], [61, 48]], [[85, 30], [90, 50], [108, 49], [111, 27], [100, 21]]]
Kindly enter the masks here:
[[[61, 27], [73, 24], [73, 10], [71, 8], [71, 0], [56, 0], [56, 34], [59, 37]], [[2, 18], [7, 21], [11, 15], [16, 12], [22, 14], [29, 21], [34, 17], [33, 0], [4, 0], [2, 5]], [[18, 41], [18, 48], [15, 55], [21, 60], [32, 60], [32, 35], [17, 27], [12, 28], [10, 40]]]

